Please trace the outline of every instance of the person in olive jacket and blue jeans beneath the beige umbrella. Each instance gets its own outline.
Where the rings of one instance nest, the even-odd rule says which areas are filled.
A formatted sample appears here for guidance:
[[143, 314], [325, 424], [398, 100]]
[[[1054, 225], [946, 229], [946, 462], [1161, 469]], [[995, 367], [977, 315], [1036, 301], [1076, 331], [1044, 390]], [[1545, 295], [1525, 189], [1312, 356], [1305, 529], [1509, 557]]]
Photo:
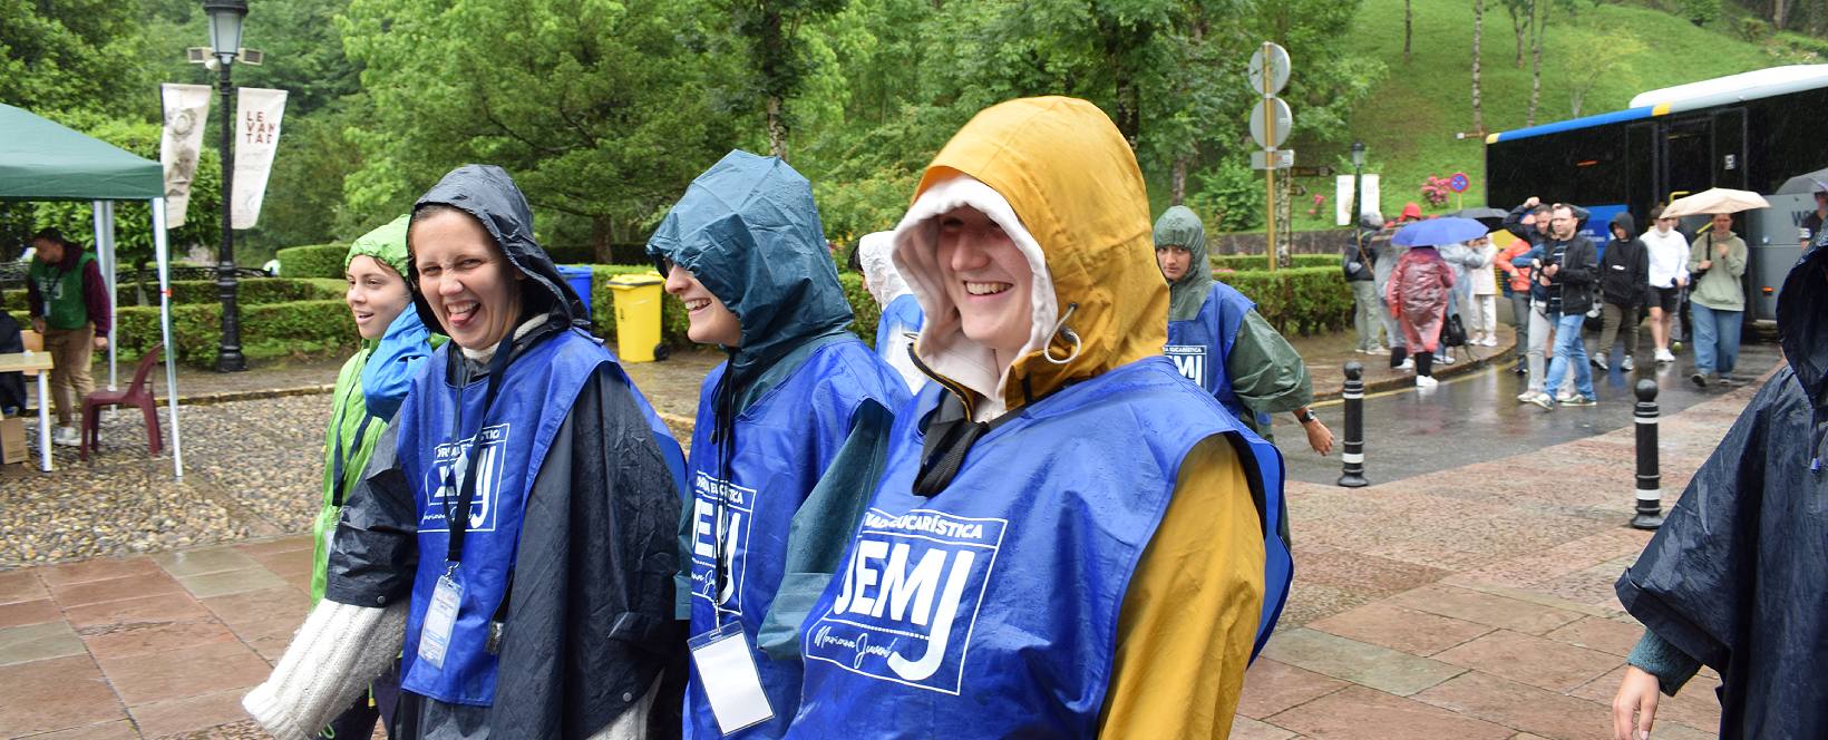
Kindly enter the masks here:
[[1695, 274], [1695, 386], [1735, 384], [1738, 331], [1746, 314], [1746, 241], [1733, 234], [1733, 214], [1713, 214], [1709, 228], [1689, 245], [1689, 274]]

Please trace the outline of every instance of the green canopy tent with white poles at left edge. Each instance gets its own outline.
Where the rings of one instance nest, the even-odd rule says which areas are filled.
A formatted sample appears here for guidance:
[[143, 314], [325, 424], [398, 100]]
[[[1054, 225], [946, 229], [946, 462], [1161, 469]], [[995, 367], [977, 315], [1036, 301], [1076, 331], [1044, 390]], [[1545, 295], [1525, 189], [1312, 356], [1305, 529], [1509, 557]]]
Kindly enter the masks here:
[[[0, 104], [0, 201], [90, 201], [95, 214], [95, 254], [108, 281], [108, 311], [115, 294], [115, 201], [148, 201], [152, 241], [159, 265], [159, 325], [165, 334], [165, 384], [172, 417], [172, 471], [185, 475], [177, 433], [177, 351], [172, 347], [170, 250], [165, 236], [165, 170], [119, 146]], [[113, 318], [113, 316], [110, 316]], [[113, 323], [113, 322], [110, 322]], [[108, 342], [108, 389], [115, 387], [115, 347]], [[40, 437], [49, 437], [40, 417]]]

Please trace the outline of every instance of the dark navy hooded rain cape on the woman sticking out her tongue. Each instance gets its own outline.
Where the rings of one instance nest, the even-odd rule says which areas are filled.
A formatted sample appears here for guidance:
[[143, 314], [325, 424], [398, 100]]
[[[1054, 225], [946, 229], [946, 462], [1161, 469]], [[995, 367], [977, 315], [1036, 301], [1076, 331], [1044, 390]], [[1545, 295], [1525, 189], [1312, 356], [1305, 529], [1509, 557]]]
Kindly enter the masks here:
[[[470, 563], [472, 557], [495, 557], [495, 566], [503, 565], [499, 559], [512, 559], [512, 590], [505, 572], [495, 585], [486, 579], [473, 585], [477, 590], [505, 592], [508, 599], [501, 610], [497, 652], [481, 660], [499, 663], [492, 671], [492, 692], [486, 702], [484, 696], [450, 694], [481, 703], [448, 703], [402, 692], [389, 736], [585, 738], [638, 705], [651, 707], [649, 736], [673, 736], [678, 729], [673, 714], [678, 694], [660, 692], [667, 683], [664, 674], [682, 671], [684, 663], [684, 636], [671, 619], [676, 559], [671, 534], [680, 499], [662, 446], [671, 446], [675, 457], [678, 448], [664, 428], [656, 428], [651, 409], [614, 356], [579, 329], [583, 305], [534, 243], [532, 212], [505, 172], [494, 166], [459, 168], [420, 199], [420, 205], [428, 203], [446, 203], [477, 217], [526, 278], [521, 283], [523, 320], [547, 316], [537, 329], [497, 349], [497, 354], [508, 353], [508, 360], [492, 365], [505, 378], [499, 396], [523, 398], [521, 404], [508, 404], [519, 406], [508, 415], [515, 417], [514, 422], [537, 426], [547, 449], [537, 464], [497, 460], [497, 470], [525, 466], [517, 539], [495, 532], [495, 543], [475, 544], [473, 555], [464, 555], [459, 566], [457, 577], [462, 579], [466, 570], [483, 570], [481, 563]], [[435, 322], [417, 285], [415, 303], [420, 316]], [[536, 362], [547, 354], [554, 356], [554, 364]], [[523, 360], [526, 365], [519, 365]], [[442, 501], [431, 499], [437, 493], [426, 484], [431, 477], [409, 477], [415, 464], [406, 462], [437, 460], [435, 448], [399, 446], [406, 440], [402, 428], [413, 426], [408, 420], [424, 418], [426, 395], [477, 380], [470, 365], [457, 360], [455, 347], [446, 345], [435, 354], [431, 373], [408, 393], [400, 407], [402, 422], [382, 439], [344, 508], [325, 599], [382, 607], [413, 597], [419, 561], [446, 557], [442, 537], [419, 532], [420, 519], [442, 510]], [[565, 369], [543, 373], [554, 365]], [[574, 389], [559, 395], [569, 398], [548, 398], [552, 404], [541, 407], [525, 402], [526, 395], [550, 396], [539, 387], [548, 378], [567, 380]], [[462, 424], [486, 428], [501, 413]], [[422, 444], [446, 444], [452, 442], [444, 439], [448, 435], [448, 429], [437, 428], [424, 429], [419, 439]], [[488, 435], [481, 437], [490, 442]], [[501, 448], [495, 453], [512, 451]], [[497, 502], [506, 499], [495, 497]], [[472, 506], [470, 512], [479, 510]], [[506, 526], [506, 519], [497, 515], [495, 521]], [[470, 546], [464, 544], [466, 552]], [[499, 605], [501, 599], [494, 601]], [[466, 596], [452, 647], [472, 658], [464, 665], [477, 663], [477, 652], [473, 645], [459, 649], [455, 640], [475, 638], [475, 625], [492, 619], [499, 607], [470, 608]], [[466, 619], [470, 630], [462, 627]], [[453, 665], [450, 660], [459, 652], [452, 652], [446, 665]], [[470, 676], [450, 678], [448, 683], [457, 685]], [[420, 683], [433, 694], [446, 694], [450, 685], [442, 680]]]

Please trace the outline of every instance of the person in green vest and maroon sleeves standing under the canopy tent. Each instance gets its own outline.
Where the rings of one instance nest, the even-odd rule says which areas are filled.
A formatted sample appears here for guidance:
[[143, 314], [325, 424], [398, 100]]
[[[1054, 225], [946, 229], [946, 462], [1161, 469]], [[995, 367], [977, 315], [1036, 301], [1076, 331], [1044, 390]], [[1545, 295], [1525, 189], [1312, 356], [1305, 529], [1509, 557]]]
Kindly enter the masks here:
[[57, 433], [51, 442], [82, 444], [77, 417], [82, 398], [95, 391], [90, 376], [91, 356], [108, 349], [108, 283], [95, 256], [64, 239], [64, 232], [44, 228], [31, 236], [33, 259], [26, 270], [26, 300], [31, 303], [31, 329], [44, 336], [51, 353], [51, 400], [57, 407]]

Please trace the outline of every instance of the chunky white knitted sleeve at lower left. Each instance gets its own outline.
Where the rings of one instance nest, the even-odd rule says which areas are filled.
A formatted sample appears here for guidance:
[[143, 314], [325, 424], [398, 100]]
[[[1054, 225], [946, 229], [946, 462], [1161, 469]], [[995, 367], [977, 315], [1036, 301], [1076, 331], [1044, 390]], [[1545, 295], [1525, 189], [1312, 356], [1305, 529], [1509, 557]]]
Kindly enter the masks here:
[[316, 736], [400, 654], [408, 603], [380, 608], [318, 601], [272, 676], [241, 698], [241, 709], [278, 740]]

